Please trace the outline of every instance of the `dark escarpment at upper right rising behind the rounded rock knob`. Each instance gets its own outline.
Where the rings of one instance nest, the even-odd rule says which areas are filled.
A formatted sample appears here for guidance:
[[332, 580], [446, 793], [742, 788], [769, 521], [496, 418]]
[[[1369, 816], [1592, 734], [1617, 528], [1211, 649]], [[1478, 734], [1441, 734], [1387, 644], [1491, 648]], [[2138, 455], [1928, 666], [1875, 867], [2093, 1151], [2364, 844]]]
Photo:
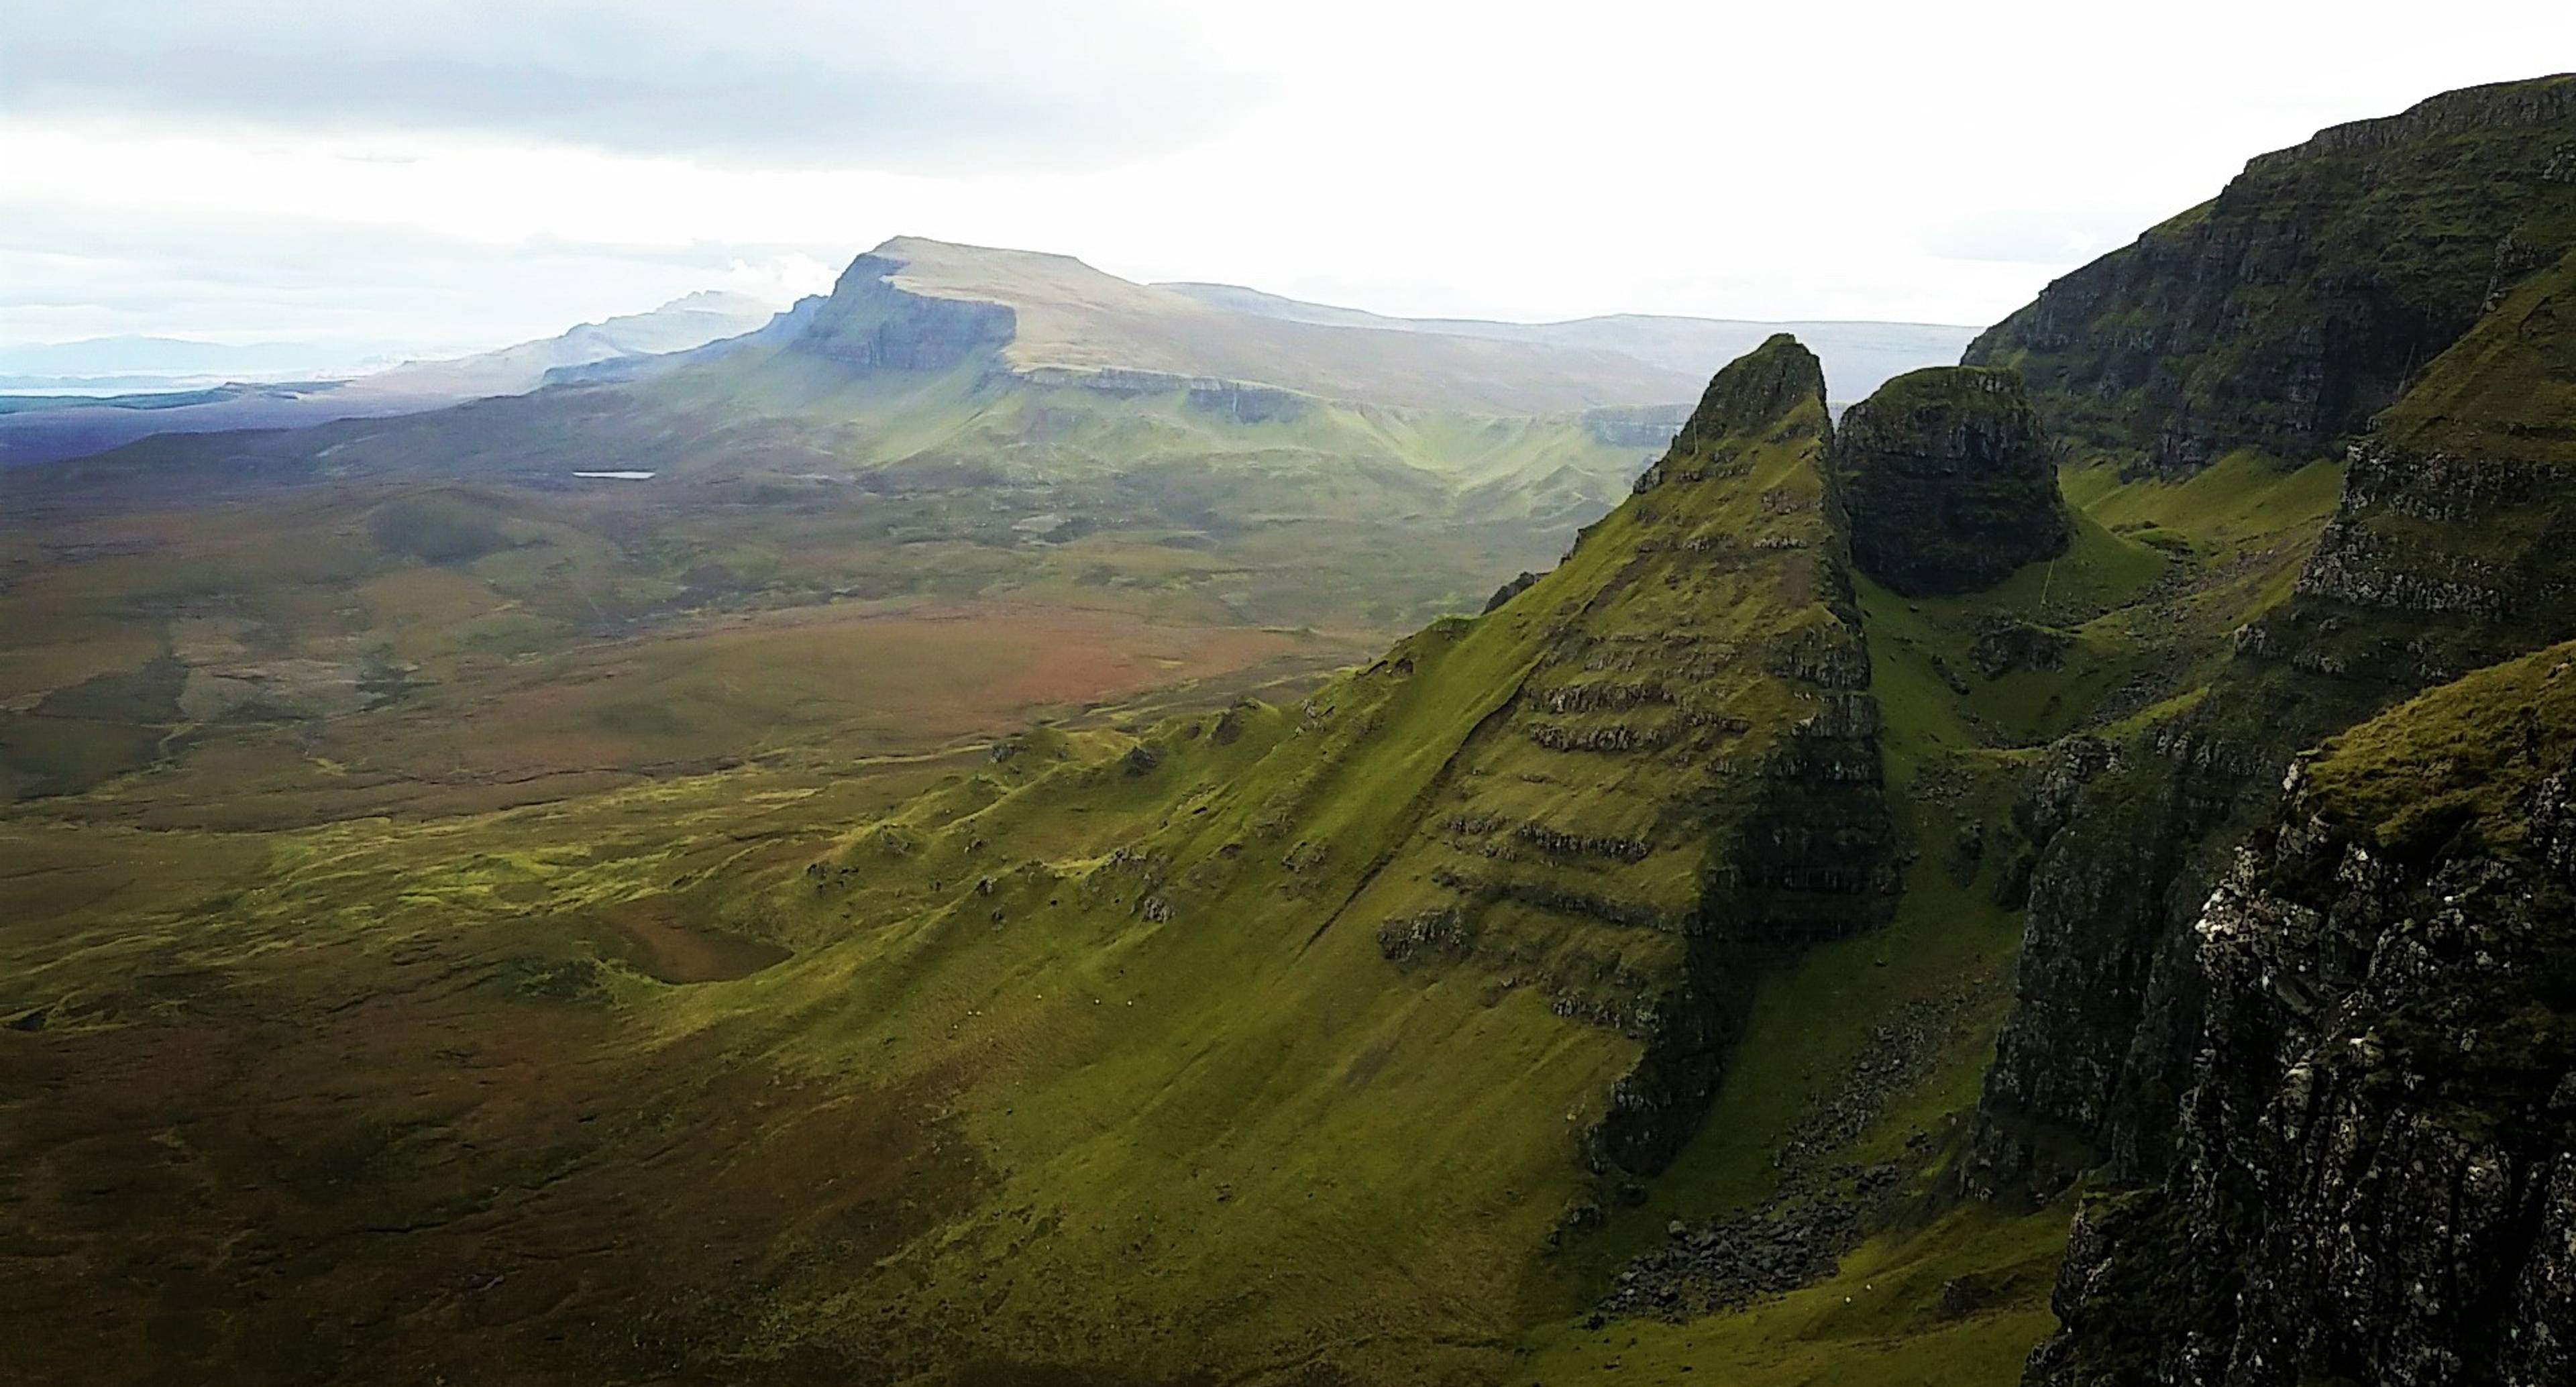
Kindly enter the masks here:
[[2576, 77], [2437, 95], [2257, 157], [1968, 345], [2048, 425], [2156, 471], [2360, 430], [2576, 247]]

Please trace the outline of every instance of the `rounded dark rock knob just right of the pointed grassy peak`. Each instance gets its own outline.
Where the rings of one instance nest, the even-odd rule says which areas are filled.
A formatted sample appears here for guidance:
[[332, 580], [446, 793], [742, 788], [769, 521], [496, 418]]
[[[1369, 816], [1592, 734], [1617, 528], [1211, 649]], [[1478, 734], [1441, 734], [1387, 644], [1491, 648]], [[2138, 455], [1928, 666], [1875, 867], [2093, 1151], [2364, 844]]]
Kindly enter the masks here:
[[1911, 371], [1844, 409], [1834, 473], [1852, 564], [1909, 597], [1994, 587], [2066, 553], [2056, 453], [2009, 371]]

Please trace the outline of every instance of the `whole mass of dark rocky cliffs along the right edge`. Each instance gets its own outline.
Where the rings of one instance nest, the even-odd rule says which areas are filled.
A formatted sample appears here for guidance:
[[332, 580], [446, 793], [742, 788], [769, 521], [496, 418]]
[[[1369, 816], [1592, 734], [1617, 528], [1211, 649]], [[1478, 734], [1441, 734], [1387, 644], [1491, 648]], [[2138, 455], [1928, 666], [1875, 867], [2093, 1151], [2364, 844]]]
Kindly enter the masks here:
[[[2017, 360], [2112, 458], [2342, 458], [2231, 659], [2048, 749], [2017, 811], [2017, 1001], [1958, 1181], [2014, 1202], [2107, 1179], [2032, 1382], [2568, 1372], [2568, 651], [2530, 651], [2576, 636], [2571, 270], [2442, 255], [2543, 244], [2576, 211], [2550, 172], [2571, 93], [2455, 93], [2257, 160], [1971, 353]], [[2460, 216], [2442, 237], [2391, 221], [2432, 206]], [[2334, 270], [2352, 237], [2388, 257], [2367, 283]], [[2076, 301], [2174, 309], [2136, 381], [2069, 327]]]

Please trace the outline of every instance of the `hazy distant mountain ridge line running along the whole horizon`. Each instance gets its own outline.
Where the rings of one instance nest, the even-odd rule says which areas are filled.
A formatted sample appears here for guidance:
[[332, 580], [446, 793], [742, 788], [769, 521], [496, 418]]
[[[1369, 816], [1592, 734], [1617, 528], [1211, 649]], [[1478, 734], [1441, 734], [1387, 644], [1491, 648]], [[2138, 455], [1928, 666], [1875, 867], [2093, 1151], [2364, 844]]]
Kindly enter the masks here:
[[1839, 396], [1855, 399], [1888, 376], [1955, 360], [1973, 332], [1649, 314], [1396, 319], [1234, 286], [1133, 283], [1069, 255], [894, 237], [858, 255], [829, 296], [775, 317], [739, 293], [703, 291], [649, 314], [345, 383], [224, 383], [209, 399], [152, 409], [137, 399], [13, 401], [0, 412], [0, 463], [77, 458], [155, 432], [307, 427], [544, 386], [639, 383], [744, 347], [860, 371], [974, 360], [979, 373], [1118, 396], [1195, 391], [1226, 401], [1239, 422], [1280, 417], [1296, 401], [1468, 417], [1595, 412], [1623, 445], [1654, 448], [1718, 365], [1783, 327], [1814, 340]]

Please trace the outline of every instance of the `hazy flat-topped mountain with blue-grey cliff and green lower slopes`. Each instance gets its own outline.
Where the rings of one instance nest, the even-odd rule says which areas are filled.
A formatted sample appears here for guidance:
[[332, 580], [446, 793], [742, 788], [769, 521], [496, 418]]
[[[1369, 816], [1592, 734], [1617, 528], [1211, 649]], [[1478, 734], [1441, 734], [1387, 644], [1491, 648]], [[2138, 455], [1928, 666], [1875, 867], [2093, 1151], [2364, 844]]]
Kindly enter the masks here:
[[[1069, 257], [922, 239], [708, 347], [546, 365], [562, 347], [482, 363], [518, 371], [513, 386], [544, 368], [551, 389], [157, 437], [23, 473], [18, 491], [88, 510], [507, 486], [616, 530], [598, 553], [631, 579], [621, 592], [696, 592], [690, 574], [742, 553], [706, 548], [711, 530], [768, 517], [786, 538], [757, 540], [762, 576], [732, 584], [765, 610], [1087, 587], [1376, 641], [1556, 561], [1692, 394], [1633, 358], [1283, 324]], [[392, 394], [404, 373], [386, 376]], [[634, 512], [659, 543], [631, 540]], [[672, 615], [639, 602], [600, 600], [598, 618]]]

